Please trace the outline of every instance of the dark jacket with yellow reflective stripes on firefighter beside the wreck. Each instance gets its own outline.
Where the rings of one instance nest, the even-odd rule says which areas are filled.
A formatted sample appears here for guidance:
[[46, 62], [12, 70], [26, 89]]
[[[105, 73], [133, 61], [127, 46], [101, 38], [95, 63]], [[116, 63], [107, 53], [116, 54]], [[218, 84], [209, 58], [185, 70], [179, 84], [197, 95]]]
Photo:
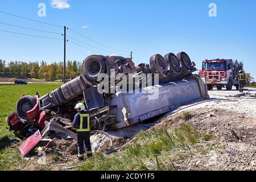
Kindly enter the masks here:
[[82, 110], [75, 115], [73, 130], [76, 130], [77, 133], [90, 131], [90, 115], [87, 110]]

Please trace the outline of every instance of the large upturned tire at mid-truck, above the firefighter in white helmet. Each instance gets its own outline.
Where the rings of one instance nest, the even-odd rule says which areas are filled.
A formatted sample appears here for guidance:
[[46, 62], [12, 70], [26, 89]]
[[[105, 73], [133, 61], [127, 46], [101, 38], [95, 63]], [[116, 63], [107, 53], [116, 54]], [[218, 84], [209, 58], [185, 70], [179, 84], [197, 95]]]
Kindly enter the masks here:
[[101, 55], [92, 55], [85, 59], [82, 70], [85, 78], [90, 81], [97, 81], [101, 73], [106, 73], [106, 57]]

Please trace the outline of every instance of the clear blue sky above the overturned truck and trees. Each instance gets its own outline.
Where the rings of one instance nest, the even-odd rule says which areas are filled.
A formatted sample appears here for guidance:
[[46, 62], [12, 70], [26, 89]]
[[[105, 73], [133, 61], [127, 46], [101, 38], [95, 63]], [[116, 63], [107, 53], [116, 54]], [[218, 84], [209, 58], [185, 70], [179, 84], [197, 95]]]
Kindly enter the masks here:
[[[216, 3], [217, 17], [210, 17], [209, 3]], [[46, 4], [46, 17], [38, 4]], [[0, 1], [0, 11], [42, 22], [68, 26], [94, 41], [122, 51], [133, 51], [136, 64], [148, 63], [155, 53], [185, 51], [201, 68], [204, 59], [237, 59], [256, 78], [256, 1], [216, 0], [13, 0]], [[63, 28], [0, 13], [0, 22], [63, 33]], [[24, 30], [0, 24], [0, 30], [62, 38], [61, 35]], [[89, 44], [105, 55], [125, 54], [68, 30], [67, 35]], [[63, 60], [63, 41], [0, 32], [0, 59], [7, 61]], [[69, 39], [71, 40], [71, 39]], [[75, 41], [73, 41], [75, 42]], [[101, 51], [104, 49], [108, 52]], [[97, 52], [67, 43], [67, 59], [84, 60]]]

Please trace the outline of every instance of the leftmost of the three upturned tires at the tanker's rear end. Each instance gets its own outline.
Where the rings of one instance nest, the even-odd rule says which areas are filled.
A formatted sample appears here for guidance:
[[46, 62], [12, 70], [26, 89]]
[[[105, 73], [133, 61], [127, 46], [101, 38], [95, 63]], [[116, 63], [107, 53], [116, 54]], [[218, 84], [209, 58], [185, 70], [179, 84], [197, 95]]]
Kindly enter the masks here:
[[164, 57], [156, 54], [150, 57], [150, 72], [159, 73], [160, 75], [165, 75], [167, 72], [167, 63]]

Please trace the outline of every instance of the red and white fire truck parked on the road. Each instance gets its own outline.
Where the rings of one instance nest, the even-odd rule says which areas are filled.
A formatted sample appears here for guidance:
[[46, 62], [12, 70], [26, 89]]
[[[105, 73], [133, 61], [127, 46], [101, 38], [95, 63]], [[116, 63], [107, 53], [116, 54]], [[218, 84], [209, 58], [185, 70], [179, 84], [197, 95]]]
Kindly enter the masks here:
[[238, 72], [243, 71], [243, 63], [232, 59], [213, 59], [204, 60], [202, 70], [199, 75], [205, 76], [207, 80], [207, 89], [212, 90], [216, 86], [218, 90], [226, 87], [226, 90], [232, 90], [232, 86], [239, 89], [239, 82], [234, 78]]

